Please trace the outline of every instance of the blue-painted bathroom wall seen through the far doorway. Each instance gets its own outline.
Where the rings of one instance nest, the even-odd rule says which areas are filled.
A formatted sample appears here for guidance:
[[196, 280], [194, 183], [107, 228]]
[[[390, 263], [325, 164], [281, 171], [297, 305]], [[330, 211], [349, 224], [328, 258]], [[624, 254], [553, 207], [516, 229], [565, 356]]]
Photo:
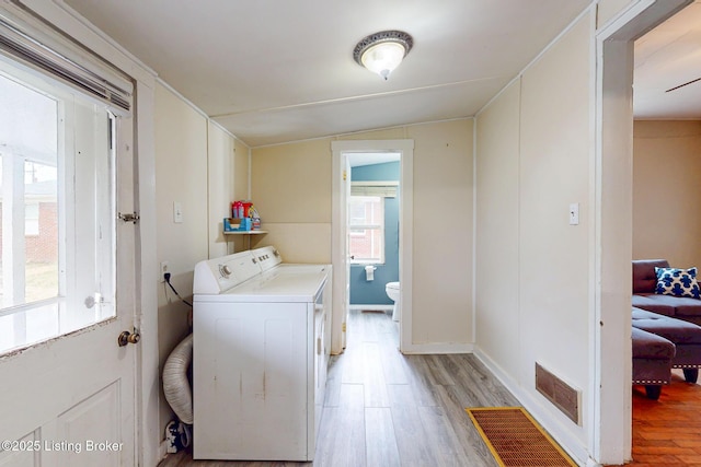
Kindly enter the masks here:
[[[353, 167], [353, 182], [399, 180], [399, 162]], [[367, 281], [365, 265], [350, 266], [352, 305], [391, 305], [384, 285], [399, 280], [399, 194], [397, 198], [384, 198], [384, 264], [376, 265], [375, 280]]]

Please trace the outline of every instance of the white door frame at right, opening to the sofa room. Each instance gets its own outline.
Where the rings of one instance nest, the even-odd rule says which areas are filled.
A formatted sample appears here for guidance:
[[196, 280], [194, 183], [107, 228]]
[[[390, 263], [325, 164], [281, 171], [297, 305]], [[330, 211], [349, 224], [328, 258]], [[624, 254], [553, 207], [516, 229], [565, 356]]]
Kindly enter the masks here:
[[[631, 458], [633, 42], [691, 0], [641, 0], [596, 33], [595, 345], [588, 465]], [[596, 459], [596, 460], [594, 460]]]

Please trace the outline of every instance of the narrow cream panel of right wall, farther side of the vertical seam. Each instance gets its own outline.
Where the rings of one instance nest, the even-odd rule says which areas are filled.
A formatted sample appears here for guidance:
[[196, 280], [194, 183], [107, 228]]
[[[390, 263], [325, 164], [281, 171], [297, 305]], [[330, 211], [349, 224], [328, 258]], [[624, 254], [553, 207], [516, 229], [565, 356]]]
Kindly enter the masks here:
[[520, 80], [476, 119], [476, 345], [519, 374]]

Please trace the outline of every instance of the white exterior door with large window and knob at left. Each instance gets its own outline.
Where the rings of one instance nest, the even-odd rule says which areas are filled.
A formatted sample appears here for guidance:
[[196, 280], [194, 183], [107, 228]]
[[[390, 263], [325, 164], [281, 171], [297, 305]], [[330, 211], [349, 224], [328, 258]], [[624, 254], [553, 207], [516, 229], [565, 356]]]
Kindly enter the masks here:
[[[48, 218], [39, 209], [38, 233], [30, 235], [30, 210], [22, 219], [24, 209], [3, 209], [3, 236], [13, 238], [2, 243], [2, 281], [15, 284], [10, 292], [16, 296], [10, 302], [4, 292], [0, 310], [0, 466], [134, 466], [138, 347], [117, 345], [123, 330], [138, 326], [138, 224], [117, 220], [117, 212], [135, 211], [134, 120], [111, 116], [104, 105], [25, 71], [0, 61], [0, 81], [9, 77], [9, 86], [24, 90], [0, 93], [0, 107], [15, 100], [27, 113], [13, 117], [0, 110], [0, 127], [14, 129], [0, 130], [3, 208], [34, 199], [39, 207], [54, 206], [57, 252], [46, 277], [33, 276], [31, 246]], [[37, 117], [33, 107], [54, 108], [56, 118]], [[44, 145], [55, 148], [54, 155], [42, 150], [49, 133], [54, 142]], [[10, 192], [5, 168], [12, 166], [19, 182]], [[51, 184], [55, 189], [44, 189]], [[33, 288], [48, 292], [39, 290], [46, 296], [35, 300]]]

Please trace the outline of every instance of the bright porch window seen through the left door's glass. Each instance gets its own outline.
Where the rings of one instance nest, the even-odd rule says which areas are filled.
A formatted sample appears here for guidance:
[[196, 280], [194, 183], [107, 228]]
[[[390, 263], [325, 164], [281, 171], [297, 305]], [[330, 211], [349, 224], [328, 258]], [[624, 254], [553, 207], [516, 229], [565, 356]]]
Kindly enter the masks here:
[[[58, 296], [58, 103], [0, 75], [0, 348], [54, 334]], [[22, 310], [23, 313], [16, 313]]]

